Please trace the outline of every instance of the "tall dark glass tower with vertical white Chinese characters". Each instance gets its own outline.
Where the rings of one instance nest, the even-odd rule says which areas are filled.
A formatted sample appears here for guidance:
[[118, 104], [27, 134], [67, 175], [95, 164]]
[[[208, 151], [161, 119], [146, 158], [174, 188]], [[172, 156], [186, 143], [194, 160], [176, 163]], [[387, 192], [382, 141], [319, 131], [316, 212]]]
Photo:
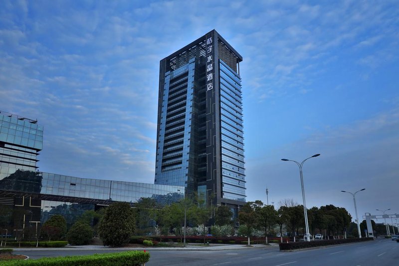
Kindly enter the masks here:
[[161, 60], [155, 184], [244, 204], [241, 61], [215, 30]]

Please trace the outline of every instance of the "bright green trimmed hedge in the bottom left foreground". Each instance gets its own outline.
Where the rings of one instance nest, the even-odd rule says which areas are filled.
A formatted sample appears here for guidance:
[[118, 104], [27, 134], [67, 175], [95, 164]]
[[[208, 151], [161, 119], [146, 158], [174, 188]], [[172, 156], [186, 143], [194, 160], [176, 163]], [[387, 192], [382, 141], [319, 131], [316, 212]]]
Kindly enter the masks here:
[[71, 256], [57, 258], [41, 258], [26, 261], [4, 261], [0, 266], [139, 266], [150, 260], [150, 254], [142, 251], [121, 253], [94, 254], [88, 256]]

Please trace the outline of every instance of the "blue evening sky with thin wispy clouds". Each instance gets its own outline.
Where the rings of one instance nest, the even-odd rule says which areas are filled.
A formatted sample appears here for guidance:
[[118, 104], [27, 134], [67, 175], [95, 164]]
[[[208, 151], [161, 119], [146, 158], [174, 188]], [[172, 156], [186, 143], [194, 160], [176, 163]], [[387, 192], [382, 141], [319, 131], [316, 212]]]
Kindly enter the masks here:
[[[1, 0], [0, 110], [39, 170], [153, 183], [159, 61], [216, 29], [243, 57], [247, 201], [399, 213], [397, 0]], [[380, 220], [381, 221], [381, 220]], [[379, 222], [379, 221], [378, 221]]]

